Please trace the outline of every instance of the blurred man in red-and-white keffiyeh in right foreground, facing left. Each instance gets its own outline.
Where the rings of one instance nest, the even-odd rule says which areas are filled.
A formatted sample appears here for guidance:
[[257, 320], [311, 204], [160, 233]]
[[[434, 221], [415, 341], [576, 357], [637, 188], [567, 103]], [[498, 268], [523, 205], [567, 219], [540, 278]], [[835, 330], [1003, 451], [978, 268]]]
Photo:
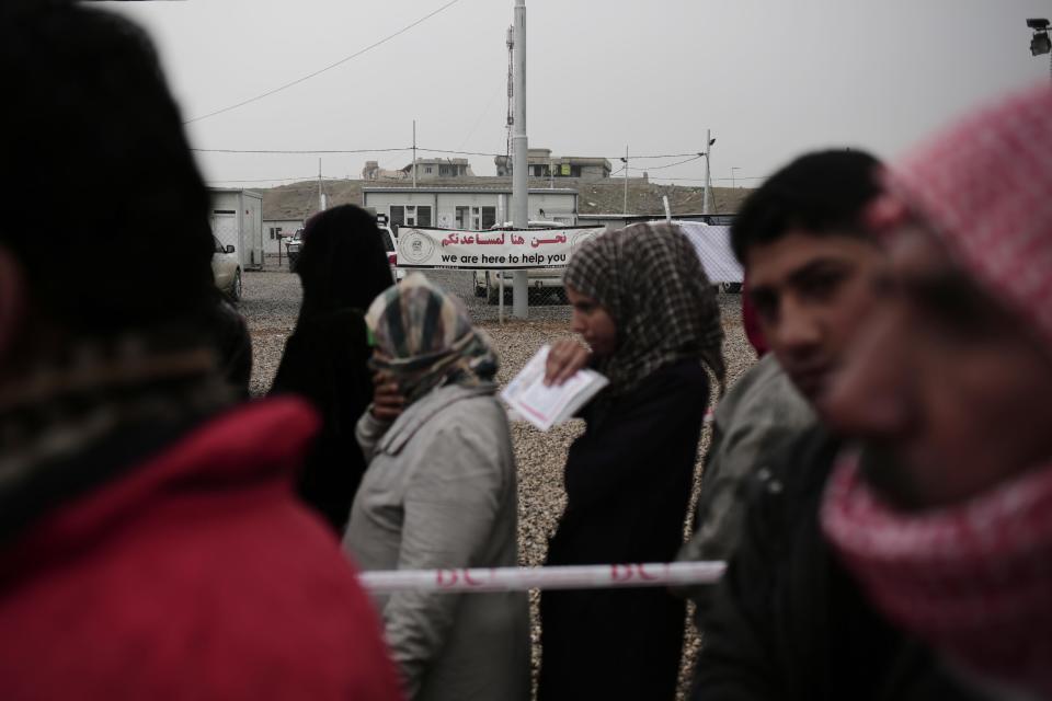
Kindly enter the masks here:
[[1052, 90], [882, 182], [888, 267], [815, 399], [850, 443], [750, 501], [696, 700], [1052, 699]]

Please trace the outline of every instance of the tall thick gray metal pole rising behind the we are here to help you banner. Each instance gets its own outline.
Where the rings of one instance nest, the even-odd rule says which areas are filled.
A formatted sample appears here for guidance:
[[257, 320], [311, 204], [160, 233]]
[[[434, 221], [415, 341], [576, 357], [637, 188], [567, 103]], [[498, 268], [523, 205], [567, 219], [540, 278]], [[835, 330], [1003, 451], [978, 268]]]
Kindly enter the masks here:
[[[526, 0], [515, 0], [515, 168], [512, 171], [512, 225], [529, 227], [529, 161], [526, 137]], [[528, 314], [526, 271], [515, 271], [512, 281], [512, 315], [526, 319]]]

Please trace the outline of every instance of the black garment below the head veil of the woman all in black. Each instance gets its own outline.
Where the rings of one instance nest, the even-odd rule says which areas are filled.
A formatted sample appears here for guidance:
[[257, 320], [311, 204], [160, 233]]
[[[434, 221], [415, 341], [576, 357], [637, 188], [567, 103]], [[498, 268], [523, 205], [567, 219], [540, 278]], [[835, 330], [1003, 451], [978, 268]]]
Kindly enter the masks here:
[[298, 492], [340, 536], [365, 474], [354, 427], [373, 399], [370, 348], [362, 312], [346, 309], [302, 321], [285, 343], [272, 394], [296, 394], [322, 417]]

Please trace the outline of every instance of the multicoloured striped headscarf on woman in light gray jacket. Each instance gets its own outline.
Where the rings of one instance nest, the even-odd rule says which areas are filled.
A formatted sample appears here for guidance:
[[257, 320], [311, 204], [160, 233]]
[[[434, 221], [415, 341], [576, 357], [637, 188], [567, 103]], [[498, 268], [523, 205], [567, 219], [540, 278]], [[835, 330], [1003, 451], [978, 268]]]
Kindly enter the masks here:
[[376, 298], [365, 317], [382, 353], [373, 367], [390, 372], [407, 403], [444, 384], [478, 386], [496, 375], [490, 340], [464, 304], [420, 273]]

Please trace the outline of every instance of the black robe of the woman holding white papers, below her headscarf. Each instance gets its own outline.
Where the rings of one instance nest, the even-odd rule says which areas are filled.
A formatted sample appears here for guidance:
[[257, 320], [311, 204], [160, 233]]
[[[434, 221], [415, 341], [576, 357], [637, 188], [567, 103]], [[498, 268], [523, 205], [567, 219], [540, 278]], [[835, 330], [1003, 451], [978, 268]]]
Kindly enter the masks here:
[[[567, 459], [567, 510], [549, 565], [675, 556], [708, 392], [701, 364], [687, 360], [585, 411], [587, 429]], [[667, 590], [545, 591], [540, 616], [540, 701], [673, 698], [685, 607]]]

